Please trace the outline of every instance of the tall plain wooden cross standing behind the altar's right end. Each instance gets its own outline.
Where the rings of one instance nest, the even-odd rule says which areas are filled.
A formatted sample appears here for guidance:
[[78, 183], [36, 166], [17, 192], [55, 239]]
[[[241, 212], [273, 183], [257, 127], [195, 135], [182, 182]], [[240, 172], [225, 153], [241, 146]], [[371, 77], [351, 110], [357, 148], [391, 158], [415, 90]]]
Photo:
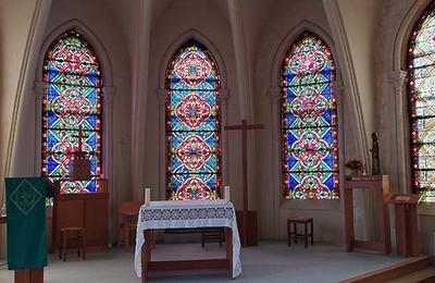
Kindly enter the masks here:
[[248, 124], [246, 119], [241, 120], [241, 125], [226, 125], [225, 131], [241, 131], [241, 171], [244, 183], [244, 210], [243, 210], [243, 239], [244, 246], [248, 245], [248, 131], [264, 128], [263, 124]]

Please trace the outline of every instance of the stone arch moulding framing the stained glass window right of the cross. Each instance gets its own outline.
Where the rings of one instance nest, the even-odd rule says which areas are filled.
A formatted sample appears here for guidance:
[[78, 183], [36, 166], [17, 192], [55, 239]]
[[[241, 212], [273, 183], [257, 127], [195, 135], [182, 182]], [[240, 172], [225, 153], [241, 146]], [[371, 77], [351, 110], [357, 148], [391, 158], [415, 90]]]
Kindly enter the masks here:
[[[276, 52], [273, 57], [273, 61], [271, 64], [271, 71], [270, 71], [270, 90], [269, 90], [269, 96], [271, 99], [271, 121], [272, 121], [272, 167], [273, 167], [273, 176], [272, 176], [272, 182], [273, 182], [273, 188], [275, 189], [274, 192], [274, 207], [276, 210], [279, 209], [279, 207], [291, 207], [291, 208], [300, 208], [300, 209], [339, 209], [340, 202], [339, 201], [332, 201], [332, 200], [318, 200], [318, 201], [284, 201], [284, 196], [283, 196], [283, 174], [282, 174], [282, 136], [281, 136], [281, 98], [282, 98], [282, 89], [279, 87], [279, 82], [282, 79], [282, 67], [283, 67], [283, 61], [286, 57], [286, 53], [288, 52], [289, 48], [296, 42], [296, 40], [299, 38], [300, 35], [303, 33], [310, 33], [315, 35], [316, 37], [321, 38], [325, 45], [330, 48], [332, 52], [332, 58], [335, 61], [336, 65], [336, 78], [335, 81], [332, 82], [332, 88], [334, 89], [334, 93], [337, 95], [337, 120], [338, 122], [338, 171], [344, 172], [344, 165], [343, 165], [343, 160], [344, 160], [344, 153], [345, 153], [345, 148], [344, 148], [344, 123], [343, 123], [343, 82], [341, 82], [341, 76], [340, 76], [340, 71], [338, 66], [338, 60], [337, 60], [337, 54], [335, 51], [335, 46], [334, 41], [331, 38], [331, 36], [325, 33], [321, 27], [318, 25], [309, 22], [309, 21], [302, 21], [298, 25], [296, 25], [284, 37], [284, 39], [279, 42], [278, 48], [276, 49]], [[343, 174], [339, 174], [339, 192], [340, 195], [343, 189], [341, 189], [341, 184], [343, 184]], [[277, 218], [276, 218], [277, 219]]]

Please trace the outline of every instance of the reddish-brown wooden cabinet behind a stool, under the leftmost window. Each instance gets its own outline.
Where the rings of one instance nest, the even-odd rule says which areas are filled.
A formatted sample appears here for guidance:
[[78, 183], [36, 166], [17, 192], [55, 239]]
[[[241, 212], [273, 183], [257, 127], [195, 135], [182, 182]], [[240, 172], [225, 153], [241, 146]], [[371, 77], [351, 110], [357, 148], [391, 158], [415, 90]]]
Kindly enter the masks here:
[[61, 246], [63, 227], [84, 227], [86, 249], [103, 249], [109, 244], [109, 193], [107, 180], [99, 180], [99, 192], [60, 194], [55, 183], [52, 224], [52, 246], [54, 253]]

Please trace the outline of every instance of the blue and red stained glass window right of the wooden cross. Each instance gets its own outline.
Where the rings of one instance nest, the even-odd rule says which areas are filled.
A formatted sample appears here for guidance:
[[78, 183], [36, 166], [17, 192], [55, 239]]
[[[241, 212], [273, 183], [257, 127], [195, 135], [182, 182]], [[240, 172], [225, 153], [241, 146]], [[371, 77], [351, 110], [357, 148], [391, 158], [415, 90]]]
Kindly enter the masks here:
[[335, 65], [325, 42], [303, 33], [282, 69], [282, 160], [287, 199], [338, 198]]

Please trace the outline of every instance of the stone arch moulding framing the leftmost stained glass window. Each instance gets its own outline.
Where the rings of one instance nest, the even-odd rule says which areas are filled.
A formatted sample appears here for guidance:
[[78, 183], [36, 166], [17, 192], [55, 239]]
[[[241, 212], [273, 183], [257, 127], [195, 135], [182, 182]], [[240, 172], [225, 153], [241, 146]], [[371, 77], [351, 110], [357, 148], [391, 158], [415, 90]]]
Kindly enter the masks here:
[[[35, 174], [40, 174], [42, 163], [40, 159], [40, 152], [42, 150], [42, 128], [41, 128], [41, 118], [42, 118], [42, 97], [47, 91], [47, 84], [42, 82], [44, 75], [44, 64], [46, 54], [52, 45], [52, 42], [65, 34], [69, 30], [76, 30], [84, 36], [86, 41], [91, 46], [92, 51], [98, 58], [99, 64], [101, 66], [102, 73], [102, 101], [103, 101], [103, 116], [102, 116], [102, 168], [101, 177], [109, 180], [109, 192], [113, 195], [113, 181], [112, 181], [112, 99], [114, 95], [114, 87], [112, 86], [112, 66], [109, 60], [108, 53], [98, 39], [98, 37], [82, 22], [78, 20], [71, 20], [65, 22], [51, 30], [44, 41], [41, 49], [39, 51], [38, 64], [36, 67], [36, 82], [35, 82], [35, 97], [36, 97], [36, 160], [35, 160]], [[114, 198], [113, 198], [114, 199]], [[113, 204], [112, 204], [113, 207]]]

